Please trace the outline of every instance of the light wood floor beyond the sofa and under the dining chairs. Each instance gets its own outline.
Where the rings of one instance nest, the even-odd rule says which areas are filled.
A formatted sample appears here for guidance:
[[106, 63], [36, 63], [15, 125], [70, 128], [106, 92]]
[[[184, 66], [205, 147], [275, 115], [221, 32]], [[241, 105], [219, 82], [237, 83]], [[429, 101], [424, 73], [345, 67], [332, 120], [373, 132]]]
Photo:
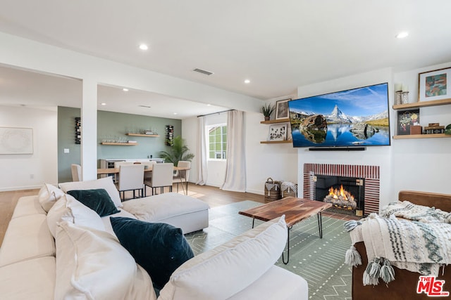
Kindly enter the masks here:
[[[173, 192], [176, 191], [177, 188], [174, 185]], [[165, 192], [168, 192], [168, 189], [165, 190]], [[11, 221], [11, 216], [13, 216], [14, 207], [16, 207], [18, 199], [23, 196], [37, 195], [37, 193], [39, 193], [39, 190], [14, 190], [10, 192], [0, 192], [0, 245], [3, 242], [6, 228], [8, 227], [9, 221]], [[179, 188], [179, 193], [183, 193], [181, 188]], [[147, 189], [147, 195], [151, 195], [149, 189]], [[206, 202], [211, 208], [244, 200], [264, 203], [263, 195], [226, 192], [208, 185], [190, 184], [188, 186], [188, 195]], [[125, 195], [125, 197], [130, 196], [131, 195], [129, 194]]]

